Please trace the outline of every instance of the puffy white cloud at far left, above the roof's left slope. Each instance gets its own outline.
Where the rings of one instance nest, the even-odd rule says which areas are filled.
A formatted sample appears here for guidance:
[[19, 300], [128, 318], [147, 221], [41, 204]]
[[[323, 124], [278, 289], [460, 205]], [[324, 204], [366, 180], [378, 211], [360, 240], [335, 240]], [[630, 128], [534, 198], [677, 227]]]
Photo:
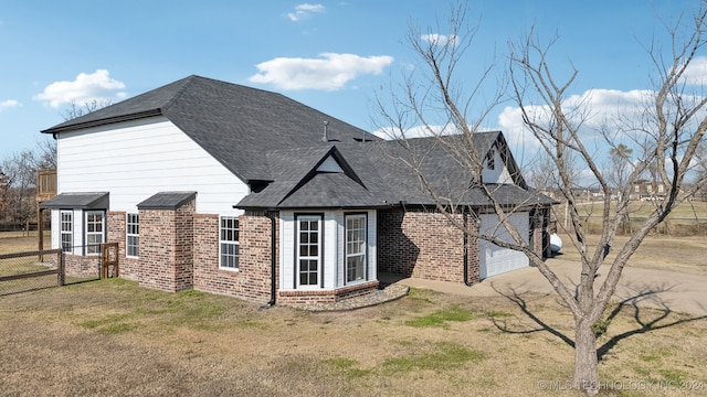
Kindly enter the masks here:
[[81, 73], [73, 82], [52, 83], [44, 88], [43, 93], [35, 95], [34, 99], [57, 108], [72, 101], [81, 105], [92, 100], [122, 99], [126, 96], [120, 92], [124, 88], [125, 84], [112, 78], [108, 71], [97, 69], [93, 74]]

